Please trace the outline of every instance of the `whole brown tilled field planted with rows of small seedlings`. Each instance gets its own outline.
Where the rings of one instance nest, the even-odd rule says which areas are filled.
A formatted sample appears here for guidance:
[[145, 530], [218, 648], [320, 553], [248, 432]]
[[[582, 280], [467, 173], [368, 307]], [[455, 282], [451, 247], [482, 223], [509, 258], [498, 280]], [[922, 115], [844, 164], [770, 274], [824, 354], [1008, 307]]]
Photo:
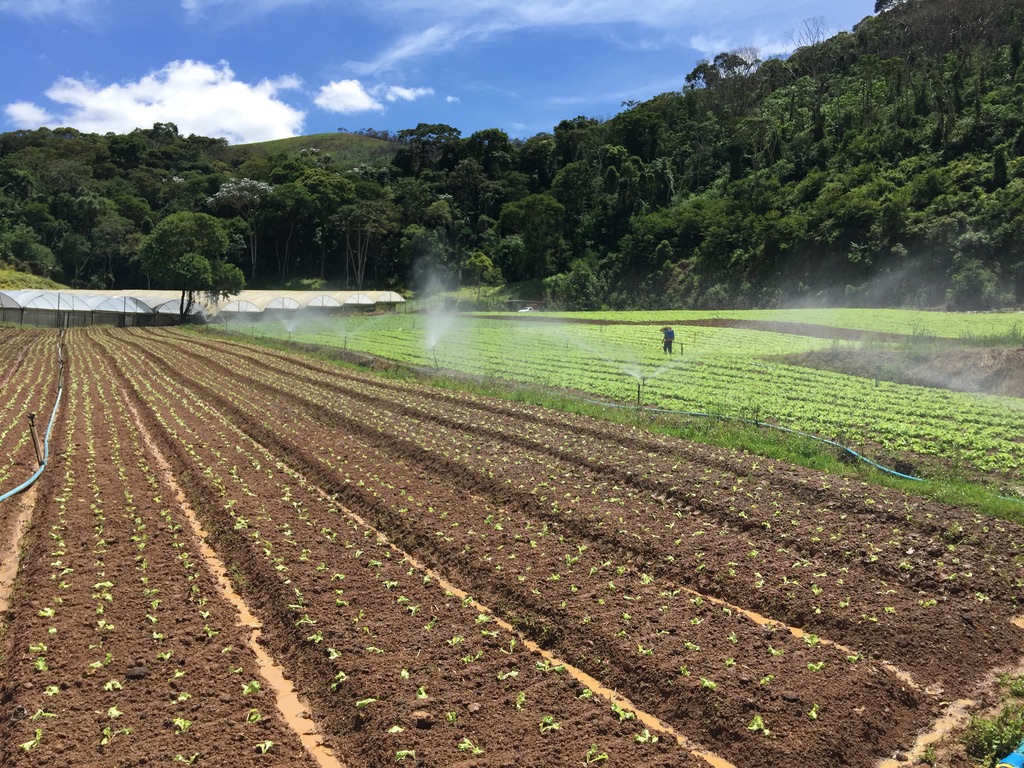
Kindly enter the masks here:
[[[0, 336], [5, 395], [45, 399], [54, 339]], [[0, 764], [323, 762], [251, 685], [193, 509], [352, 766], [906, 762], [1021, 662], [1013, 523], [180, 332], [68, 349]]]

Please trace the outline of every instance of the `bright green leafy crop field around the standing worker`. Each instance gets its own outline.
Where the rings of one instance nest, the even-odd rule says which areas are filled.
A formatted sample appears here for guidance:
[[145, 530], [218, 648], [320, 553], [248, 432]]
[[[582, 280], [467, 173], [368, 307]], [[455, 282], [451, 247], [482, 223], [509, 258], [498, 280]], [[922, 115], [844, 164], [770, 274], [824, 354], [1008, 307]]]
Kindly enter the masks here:
[[[888, 343], [900, 347], [928, 337], [1013, 337], [1019, 334], [1022, 316], [855, 309], [297, 314], [227, 327], [425, 369], [571, 389], [623, 406], [769, 422], [868, 453], [935, 457], [969, 474], [1019, 479], [1024, 467], [1024, 402], [1018, 398], [900, 385], [777, 359], [814, 349], [878, 346], [883, 343], [879, 340], [680, 324], [812, 324], [899, 334], [902, 339]], [[676, 345], [667, 355], [659, 328], [673, 323]]]

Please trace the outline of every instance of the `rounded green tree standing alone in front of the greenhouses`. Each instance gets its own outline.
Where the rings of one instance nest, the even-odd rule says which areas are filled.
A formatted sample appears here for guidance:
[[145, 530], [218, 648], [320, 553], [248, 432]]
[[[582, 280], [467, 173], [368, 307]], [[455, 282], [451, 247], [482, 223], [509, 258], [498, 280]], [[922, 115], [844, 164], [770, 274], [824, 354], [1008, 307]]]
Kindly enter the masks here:
[[216, 218], [181, 211], [157, 224], [138, 258], [151, 284], [181, 291], [178, 311], [184, 322], [196, 294], [227, 298], [245, 287], [242, 270], [224, 261], [226, 252], [227, 236]]

